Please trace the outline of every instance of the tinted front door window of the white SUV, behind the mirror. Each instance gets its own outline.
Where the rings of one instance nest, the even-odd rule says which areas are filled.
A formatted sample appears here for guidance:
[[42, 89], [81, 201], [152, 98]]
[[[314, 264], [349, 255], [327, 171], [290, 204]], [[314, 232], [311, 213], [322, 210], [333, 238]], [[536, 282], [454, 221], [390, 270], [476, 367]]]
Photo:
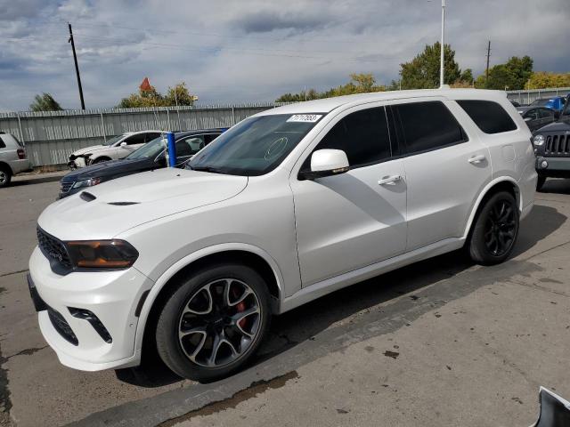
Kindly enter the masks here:
[[344, 117], [316, 149], [342, 149], [351, 168], [389, 158], [390, 137], [384, 108], [362, 109]]

